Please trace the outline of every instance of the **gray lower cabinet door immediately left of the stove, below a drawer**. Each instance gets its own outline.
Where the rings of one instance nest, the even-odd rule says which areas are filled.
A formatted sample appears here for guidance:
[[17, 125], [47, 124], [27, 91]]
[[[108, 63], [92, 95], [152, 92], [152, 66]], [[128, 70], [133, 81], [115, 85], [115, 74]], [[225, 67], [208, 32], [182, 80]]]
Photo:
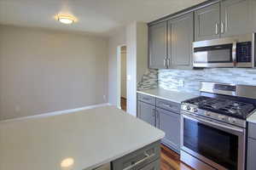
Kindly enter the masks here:
[[162, 143], [172, 147], [179, 152], [180, 150], [180, 115], [172, 111], [157, 108], [157, 127], [166, 133]]

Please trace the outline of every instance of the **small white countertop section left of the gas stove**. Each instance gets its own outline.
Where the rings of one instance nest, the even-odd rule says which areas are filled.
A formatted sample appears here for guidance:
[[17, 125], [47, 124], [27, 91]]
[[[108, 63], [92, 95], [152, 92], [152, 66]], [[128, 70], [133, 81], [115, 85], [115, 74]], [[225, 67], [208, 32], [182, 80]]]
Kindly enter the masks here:
[[191, 99], [191, 98], [195, 98], [195, 97], [199, 96], [199, 95], [189, 94], [189, 93], [185, 93], [185, 92], [166, 90], [163, 88], [154, 88], [154, 89], [149, 89], [149, 90], [138, 90], [137, 93], [150, 95], [150, 96], [153, 96], [153, 97], [156, 97], [159, 99], [170, 100], [170, 101], [176, 102], [176, 103], [181, 103], [186, 99]]

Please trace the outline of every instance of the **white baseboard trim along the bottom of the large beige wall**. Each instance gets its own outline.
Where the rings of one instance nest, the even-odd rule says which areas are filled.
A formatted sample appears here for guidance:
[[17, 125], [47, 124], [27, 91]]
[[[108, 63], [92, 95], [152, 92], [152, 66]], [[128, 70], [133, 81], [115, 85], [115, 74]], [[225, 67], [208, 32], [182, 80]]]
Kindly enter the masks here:
[[26, 120], [26, 119], [36, 119], [36, 118], [48, 117], [48, 116], [65, 115], [65, 114], [73, 113], [73, 112], [76, 112], [76, 111], [84, 111], [84, 110], [94, 109], [94, 108], [97, 108], [97, 107], [102, 107], [102, 106], [107, 106], [107, 105], [111, 105], [111, 104], [104, 103], [104, 104], [99, 104], [99, 105], [88, 105], [88, 106], [79, 107], [79, 108], [76, 108], [76, 109], [69, 109], [69, 110], [64, 110], [64, 111], [53, 111], [53, 112], [43, 113], [43, 114], [34, 115], [34, 116], [23, 116], [23, 117], [3, 120], [3, 121], [0, 121], [0, 122], [13, 122], [13, 121], [20, 121], [20, 120]]

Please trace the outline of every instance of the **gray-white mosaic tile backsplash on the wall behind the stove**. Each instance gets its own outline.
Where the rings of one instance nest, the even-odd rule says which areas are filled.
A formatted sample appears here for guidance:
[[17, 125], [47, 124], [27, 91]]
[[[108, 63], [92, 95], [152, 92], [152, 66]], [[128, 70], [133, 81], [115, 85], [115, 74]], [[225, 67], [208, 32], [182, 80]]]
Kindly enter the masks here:
[[256, 69], [159, 70], [158, 86], [198, 94], [201, 81], [256, 85]]

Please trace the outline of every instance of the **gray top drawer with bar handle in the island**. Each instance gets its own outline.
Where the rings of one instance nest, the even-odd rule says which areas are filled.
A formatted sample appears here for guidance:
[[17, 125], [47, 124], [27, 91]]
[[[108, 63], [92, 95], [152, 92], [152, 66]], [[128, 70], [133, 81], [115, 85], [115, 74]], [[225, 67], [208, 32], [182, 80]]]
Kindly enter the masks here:
[[160, 141], [113, 161], [112, 170], [141, 169], [157, 159], [160, 159]]

